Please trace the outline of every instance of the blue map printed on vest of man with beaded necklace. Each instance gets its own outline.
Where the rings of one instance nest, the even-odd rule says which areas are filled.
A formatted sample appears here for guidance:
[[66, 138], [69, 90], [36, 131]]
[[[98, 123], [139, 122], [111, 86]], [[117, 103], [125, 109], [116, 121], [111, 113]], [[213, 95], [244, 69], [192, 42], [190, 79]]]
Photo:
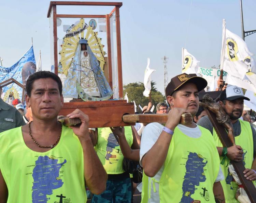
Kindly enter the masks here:
[[60, 188], [63, 185], [59, 178], [59, 170], [65, 164], [57, 164], [58, 159], [49, 158], [48, 156], [39, 156], [35, 161], [33, 169], [33, 187], [32, 203], [46, 203], [50, 198], [46, 195], [53, 194], [53, 189]]

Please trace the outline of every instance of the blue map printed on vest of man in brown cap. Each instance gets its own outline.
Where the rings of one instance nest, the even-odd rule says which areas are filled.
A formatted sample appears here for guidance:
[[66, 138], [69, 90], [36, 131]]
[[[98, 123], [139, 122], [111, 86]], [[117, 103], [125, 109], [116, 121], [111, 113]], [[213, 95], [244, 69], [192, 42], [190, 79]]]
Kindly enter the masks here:
[[194, 199], [191, 198], [191, 195], [195, 193], [195, 186], [199, 186], [200, 182], [206, 180], [203, 167], [206, 166], [207, 162], [203, 162], [203, 160], [201, 155], [189, 152], [186, 162], [186, 174], [182, 184], [183, 195], [180, 202], [193, 202]]

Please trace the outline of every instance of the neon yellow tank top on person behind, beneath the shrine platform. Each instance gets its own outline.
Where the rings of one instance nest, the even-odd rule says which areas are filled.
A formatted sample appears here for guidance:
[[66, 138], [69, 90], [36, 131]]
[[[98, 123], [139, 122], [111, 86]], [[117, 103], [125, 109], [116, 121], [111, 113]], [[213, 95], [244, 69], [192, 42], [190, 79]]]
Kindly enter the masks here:
[[[131, 147], [133, 142], [131, 126], [125, 126], [125, 137]], [[124, 173], [124, 156], [110, 128], [98, 128], [97, 155], [108, 174]]]

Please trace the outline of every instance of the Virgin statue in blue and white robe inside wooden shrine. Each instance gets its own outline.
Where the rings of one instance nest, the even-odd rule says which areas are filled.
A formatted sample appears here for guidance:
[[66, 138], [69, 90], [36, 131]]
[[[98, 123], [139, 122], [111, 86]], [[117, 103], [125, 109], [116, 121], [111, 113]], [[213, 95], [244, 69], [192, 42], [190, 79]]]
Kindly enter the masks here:
[[89, 101], [109, 99], [113, 94], [99, 62], [86, 39], [80, 39], [63, 85], [63, 96]]

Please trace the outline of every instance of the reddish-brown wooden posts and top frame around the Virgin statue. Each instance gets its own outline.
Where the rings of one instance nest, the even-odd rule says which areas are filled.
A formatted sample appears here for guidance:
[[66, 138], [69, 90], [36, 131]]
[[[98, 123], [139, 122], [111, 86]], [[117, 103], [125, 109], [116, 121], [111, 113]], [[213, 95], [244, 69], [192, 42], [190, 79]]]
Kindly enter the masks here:
[[[83, 5], [83, 6], [114, 6], [110, 14], [105, 15], [68, 15], [57, 14], [57, 5]], [[108, 45], [108, 69], [109, 85], [113, 89], [112, 81], [112, 61], [111, 61], [111, 39], [110, 39], [110, 17], [116, 12], [116, 45], [117, 45], [117, 71], [118, 71], [118, 92], [119, 98], [123, 98], [123, 74], [122, 74], [122, 54], [121, 54], [121, 37], [120, 37], [120, 14], [119, 8], [122, 2], [80, 2], [80, 1], [51, 1], [47, 13], [50, 17], [53, 10], [53, 48], [54, 48], [54, 73], [58, 75], [58, 45], [57, 45], [57, 18], [105, 18], [106, 35]]]

